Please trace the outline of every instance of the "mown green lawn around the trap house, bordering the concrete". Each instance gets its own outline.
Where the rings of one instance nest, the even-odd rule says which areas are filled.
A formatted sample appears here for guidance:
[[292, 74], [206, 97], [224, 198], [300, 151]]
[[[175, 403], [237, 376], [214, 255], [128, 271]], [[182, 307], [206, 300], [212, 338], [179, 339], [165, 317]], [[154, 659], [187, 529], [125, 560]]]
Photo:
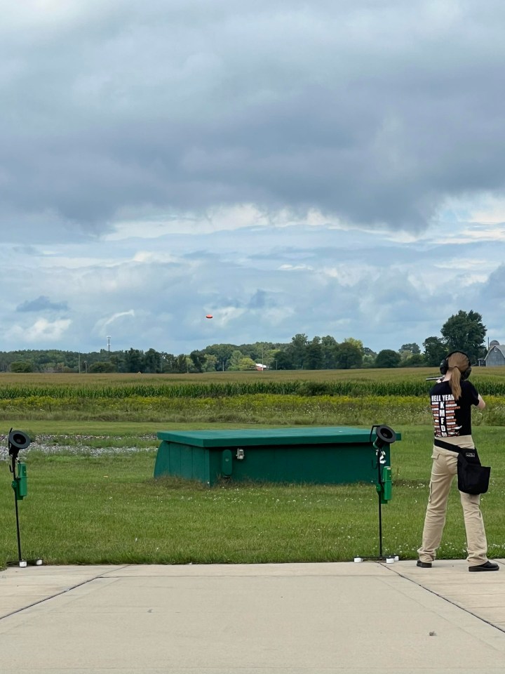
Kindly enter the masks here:
[[[382, 507], [384, 553], [414, 559], [428, 496], [431, 428], [395, 428], [403, 440], [391, 448], [393, 499]], [[48, 430], [50, 423], [34, 422], [32, 432]], [[128, 428], [122, 423], [114, 428], [58, 424], [60, 435], [93, 431], [105, 435], [105, 440], [115, 433], [133, 437], [154, 430], [159, 428], [149, 424]], [[503, 433], [503, 428], [484, 426], [474, 432], [483, 463], [492, 465], [490, 492], [482, 498], [491, 557], [505, 556]], [[206, 564], [344, 561], [378, 554], [374, 485], [231, 482], [206, 489], [177, 479], [154, 480], [155, 454], [156, 449], [149, 447], [128, 455], [30, 452], [29, 494], [19, 502], [24, 556], [40, 556], [50, 564]], [[11, 475], [5, 461], [0, 461], [0, 471], [1, 566], [16, 559], [17, 547]], [[462, 558], [464, 546], [454, 487], [439, 556]]]

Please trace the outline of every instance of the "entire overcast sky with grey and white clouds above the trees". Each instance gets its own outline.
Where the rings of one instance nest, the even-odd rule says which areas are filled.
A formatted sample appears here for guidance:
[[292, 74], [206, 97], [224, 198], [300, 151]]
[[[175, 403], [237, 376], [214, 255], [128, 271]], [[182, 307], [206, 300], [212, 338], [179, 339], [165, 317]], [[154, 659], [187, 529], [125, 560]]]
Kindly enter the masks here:
[[505, 342], [502, 1], [1, 13], [0, 350]]

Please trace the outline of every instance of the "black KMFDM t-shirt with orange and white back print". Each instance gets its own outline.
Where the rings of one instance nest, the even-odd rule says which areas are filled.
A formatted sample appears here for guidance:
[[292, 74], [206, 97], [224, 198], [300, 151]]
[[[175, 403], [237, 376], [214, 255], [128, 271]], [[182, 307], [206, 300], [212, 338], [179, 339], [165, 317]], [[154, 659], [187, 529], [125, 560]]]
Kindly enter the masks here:
[[462, 381], [461, 387], [458, 400], [454, 400], [448, 381], [435, 384], [431, 389], [435, 437], [471, 435], [471, 406], [478, 404], [478, 392], [469, 381]]

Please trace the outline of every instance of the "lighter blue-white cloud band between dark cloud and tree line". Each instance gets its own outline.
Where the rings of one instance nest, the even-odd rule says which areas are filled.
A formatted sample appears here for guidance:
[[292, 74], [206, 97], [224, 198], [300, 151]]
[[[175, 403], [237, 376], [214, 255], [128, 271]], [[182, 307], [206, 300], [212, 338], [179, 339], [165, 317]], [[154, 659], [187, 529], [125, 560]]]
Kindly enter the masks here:
[[[148, 237], [140, 252], [132, 237], [55, 244], [43, 258], [17, 253], [0, 270], [0, 342], [3, 350], [29, 343], [87, 351], [105, 348], [110, 335], [114, 350], [189, 353], [212, 343], [288, 343], [304, 332], [353, 336], [378, 351], [422, 345], [460, 309], [481, 312], [492, 338], [504, 338], [496, 300], [504, 242], [459, 242], [457, 228], [444, 230], [447, 242], [439, 227], [404, 242], [382, 230], [298, 224]], [[34, 266], [41, 259], [48, 266]], [[47, 298], [58, 292], [72, 307], [72, 324], [54, 339], [48, 326], [34, 328], [30, 312], [16, 311], [30, 287]]]

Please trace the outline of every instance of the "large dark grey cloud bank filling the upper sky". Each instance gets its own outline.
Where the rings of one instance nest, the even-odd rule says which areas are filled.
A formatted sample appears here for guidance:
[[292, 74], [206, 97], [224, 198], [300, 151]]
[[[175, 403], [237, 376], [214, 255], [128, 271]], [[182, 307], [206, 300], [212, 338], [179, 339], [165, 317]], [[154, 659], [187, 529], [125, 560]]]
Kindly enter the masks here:
[[243, 204], [420, 232], [447, 199], [503, 198], [497, 1], [30, 6], [0, 29], [11, 240], [128, 212], [229, 228]]

